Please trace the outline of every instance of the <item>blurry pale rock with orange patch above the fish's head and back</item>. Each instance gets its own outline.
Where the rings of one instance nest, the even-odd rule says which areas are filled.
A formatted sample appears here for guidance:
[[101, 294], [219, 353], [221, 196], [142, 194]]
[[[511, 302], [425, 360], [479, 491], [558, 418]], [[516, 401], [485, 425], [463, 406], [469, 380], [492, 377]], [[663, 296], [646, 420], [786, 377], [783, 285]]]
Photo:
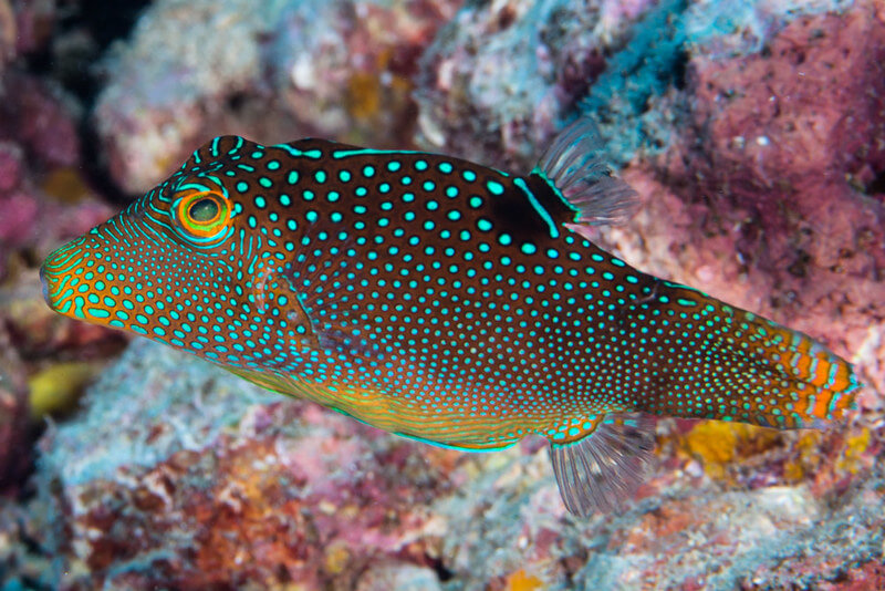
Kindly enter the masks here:
[[95, 110], [110, 173], [144, 191], [221, 133], [408, 144], [415, 61], [455, 3], [155, 2]]

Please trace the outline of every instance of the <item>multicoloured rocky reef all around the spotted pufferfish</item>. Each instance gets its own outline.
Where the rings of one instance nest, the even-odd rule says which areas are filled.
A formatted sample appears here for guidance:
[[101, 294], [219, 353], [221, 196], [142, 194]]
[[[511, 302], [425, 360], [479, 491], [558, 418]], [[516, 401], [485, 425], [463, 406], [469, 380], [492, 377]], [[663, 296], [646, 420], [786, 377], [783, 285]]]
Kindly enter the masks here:
[[[885, 4], [139, 6], [114, 40], [0, 0], [1, 589], [885, 587]], [[644, 199], [597, 241], [850, 359], [847, 424], [659, 419], [647, 484], [580, 520], [543, 442], [434, 448], [142, 340], [105, 369], [125, 341], [42, 304], [50, 248], [212, 135], [520, 170], [577, 113]]]

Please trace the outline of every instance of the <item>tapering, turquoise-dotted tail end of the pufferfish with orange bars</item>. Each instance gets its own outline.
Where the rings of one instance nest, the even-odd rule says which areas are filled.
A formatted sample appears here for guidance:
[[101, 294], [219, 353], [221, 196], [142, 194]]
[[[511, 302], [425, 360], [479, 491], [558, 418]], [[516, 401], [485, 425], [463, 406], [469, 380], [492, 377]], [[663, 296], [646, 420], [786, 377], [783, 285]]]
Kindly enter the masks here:
[[659, 281], [627, 317], [660, 333], [639, 411], [820, 428], [844, 418], [861, 387], [851, 364], [811, 336], [685, 286]]

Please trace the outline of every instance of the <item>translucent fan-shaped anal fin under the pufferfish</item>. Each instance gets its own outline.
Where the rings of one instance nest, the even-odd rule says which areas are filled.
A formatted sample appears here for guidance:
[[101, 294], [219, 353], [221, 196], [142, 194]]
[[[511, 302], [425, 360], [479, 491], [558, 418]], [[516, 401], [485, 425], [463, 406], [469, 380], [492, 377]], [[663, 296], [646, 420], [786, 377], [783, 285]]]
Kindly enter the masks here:
[[618, 509], [645, 479], [653, 449], [654, 419], [643, 414], [611, 414], [582, 439], [551, 443], [565, 508], [580, 517]]

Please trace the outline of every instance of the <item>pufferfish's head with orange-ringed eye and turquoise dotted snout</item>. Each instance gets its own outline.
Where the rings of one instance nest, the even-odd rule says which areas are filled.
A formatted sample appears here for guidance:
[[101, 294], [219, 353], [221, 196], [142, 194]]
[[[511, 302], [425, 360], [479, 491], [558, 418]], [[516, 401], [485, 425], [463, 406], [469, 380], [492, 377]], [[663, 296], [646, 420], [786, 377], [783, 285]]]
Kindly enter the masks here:
[[46, 258], [46, 303], [236, 362], [239, 342], [251, 341], [249, 325], [280, 314], [263, 304], [264, 282], [256, 279], [273, 259], [267, 212], [256, 205], [277, 168], [266, 166], [269, 149], [237, 136], [199, 148], [125, 210]]

